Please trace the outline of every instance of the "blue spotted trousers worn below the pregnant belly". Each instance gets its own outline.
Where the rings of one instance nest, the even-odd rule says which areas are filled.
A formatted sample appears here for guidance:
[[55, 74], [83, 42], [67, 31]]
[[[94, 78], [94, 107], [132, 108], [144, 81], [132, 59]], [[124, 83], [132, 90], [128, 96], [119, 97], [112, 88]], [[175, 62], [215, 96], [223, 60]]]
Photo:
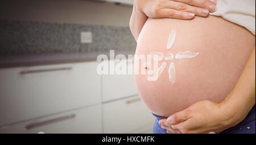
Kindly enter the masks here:
[[[155, 115], [153, 126], [153, 134], [167, 134], [165, 129], [162, 129], [158, 121], [166, 117]], [[246, 118], [238, 125], [231, 127], [221, 132], [221, 134], [255, 134], [255, 106], [250, 110]]]

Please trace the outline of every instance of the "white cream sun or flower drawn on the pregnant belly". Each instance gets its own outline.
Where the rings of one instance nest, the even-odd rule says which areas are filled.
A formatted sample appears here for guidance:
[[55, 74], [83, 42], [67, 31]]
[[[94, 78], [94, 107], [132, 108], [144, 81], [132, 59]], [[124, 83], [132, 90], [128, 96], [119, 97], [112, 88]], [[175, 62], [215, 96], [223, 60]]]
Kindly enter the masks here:
[[[172, 30], [171, 34], [169, 36], [168, 42], [167, 42], [167, 47], [166, 49], [169, 50], [172, 48], [172, 45], [174, 45], [176, 39], [176, 31]], [[174, 59], [181, 60], [181, 59], [192, 59], [193, 57], [196, 57], [199, 55], [199, 52], [191, 52], [191, 51], [186, 51], [186, 52], [179, 52], [176, 55], [172, 54], [171, 52], [167, 54], [167, 56], [164, 56], [162, 52], [152, 52], [151, 55], [153, 55], [154, 61], [162, 61], [165, 60], [162, 65], [158, 69], [154, 68], [154, 73], [152, 77], [148, 77], [148, 81], [157, 81], [162, 72], [164, 71], [164, 68], [166, 68], [166, 61], [172, 61]], [[175, 72], [175, 64], [173, 62], [170, 63], [169, 68], [168, 68], [168, 74], [169, 74], [169, 81], [174, 84], [175, 83], [175, 77], [176, 77], [176, 72]]]

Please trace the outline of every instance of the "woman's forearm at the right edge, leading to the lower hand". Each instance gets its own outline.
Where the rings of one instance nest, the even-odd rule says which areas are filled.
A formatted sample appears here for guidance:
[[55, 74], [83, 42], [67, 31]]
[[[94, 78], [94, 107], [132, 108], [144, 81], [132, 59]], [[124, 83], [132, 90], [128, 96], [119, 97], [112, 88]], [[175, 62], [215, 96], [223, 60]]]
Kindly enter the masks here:
[[255, 105], [255, 48], [235, 88], [221, 103], [222, 111], [229, 126], [240, 123]]

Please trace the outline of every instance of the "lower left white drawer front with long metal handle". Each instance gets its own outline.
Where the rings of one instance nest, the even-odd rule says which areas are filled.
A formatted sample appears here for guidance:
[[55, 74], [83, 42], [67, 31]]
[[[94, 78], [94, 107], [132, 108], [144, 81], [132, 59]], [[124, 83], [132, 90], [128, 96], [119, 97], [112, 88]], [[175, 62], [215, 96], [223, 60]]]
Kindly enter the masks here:
[[102, 133], [101, 106], [69, 111], [0, 128], [0, 133]]

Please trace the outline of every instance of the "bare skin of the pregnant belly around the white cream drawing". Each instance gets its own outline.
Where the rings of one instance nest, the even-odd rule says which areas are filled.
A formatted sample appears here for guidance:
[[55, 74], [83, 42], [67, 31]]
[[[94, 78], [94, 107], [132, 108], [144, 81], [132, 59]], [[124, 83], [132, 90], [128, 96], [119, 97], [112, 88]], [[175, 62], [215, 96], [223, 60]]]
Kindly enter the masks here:
[[[172, 29], [176, 30], [176, 40], [167, 50]], [[164, 55], [185, 51], [200, 55], [193, 59], [165, 61], [167, 67], [157, 81], [148, 81], [147, 74], [135, 74], [139, 95], [152, 113], [163, 117], [198, 101], [222, 102], [236, 85], [254, 46], [254, 35], [220, 17], [148, 19], [139, 36], [136, 55], [155, 51]], [[174, 85], [168, 79], [171, 62], [176, 67]]]

